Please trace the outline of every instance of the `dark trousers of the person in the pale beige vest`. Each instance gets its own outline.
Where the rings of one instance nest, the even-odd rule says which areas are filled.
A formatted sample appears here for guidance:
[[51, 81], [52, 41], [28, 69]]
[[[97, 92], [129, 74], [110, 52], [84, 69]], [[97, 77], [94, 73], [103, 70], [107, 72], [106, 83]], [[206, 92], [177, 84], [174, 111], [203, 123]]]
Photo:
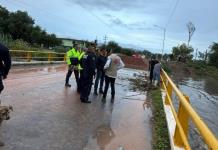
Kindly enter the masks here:
[[111, 77], [108, 77], [107, 75], [105, 75], [105, 87], [104, 87], [104, 94], [103, 94], [104, 97], [106, 97], [106, 95], [107, 95], [109, 84], [111, 85], [111, 95], [112, 95], [112, 97], [114, 97], [114, 95], [115, 95], [115, 80], [116, 80], [116, 78], [111, 78]]

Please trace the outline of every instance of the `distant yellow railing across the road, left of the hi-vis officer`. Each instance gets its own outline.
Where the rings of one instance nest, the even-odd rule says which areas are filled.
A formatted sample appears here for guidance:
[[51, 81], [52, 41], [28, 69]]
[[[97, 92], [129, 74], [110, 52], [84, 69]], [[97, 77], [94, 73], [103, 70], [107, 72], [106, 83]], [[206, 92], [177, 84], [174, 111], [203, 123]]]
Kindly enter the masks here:
[[24, 50], [10, 50], [12, 60], [14, 61], [66, 61], [65, 53], [56, 52], [42, 52], [42, 51], [24, 51]]

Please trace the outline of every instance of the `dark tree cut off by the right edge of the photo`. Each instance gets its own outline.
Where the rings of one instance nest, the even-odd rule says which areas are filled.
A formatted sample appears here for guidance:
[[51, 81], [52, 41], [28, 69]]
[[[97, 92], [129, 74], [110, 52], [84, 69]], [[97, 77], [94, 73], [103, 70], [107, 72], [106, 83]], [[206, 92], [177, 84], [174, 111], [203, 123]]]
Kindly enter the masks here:
[[218, 67], [218, 43], [213, 43], [209, 54], [210, 65]]

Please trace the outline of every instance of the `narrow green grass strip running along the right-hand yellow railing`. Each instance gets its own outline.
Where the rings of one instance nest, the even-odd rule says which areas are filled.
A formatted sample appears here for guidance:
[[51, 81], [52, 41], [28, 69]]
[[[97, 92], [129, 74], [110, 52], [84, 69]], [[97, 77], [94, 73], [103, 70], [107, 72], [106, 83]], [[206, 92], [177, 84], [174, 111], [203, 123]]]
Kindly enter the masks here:
[[168, 128], [159, 89], [149, 92], [153, 112], [153, 150], [169, 150], [170, 141]]

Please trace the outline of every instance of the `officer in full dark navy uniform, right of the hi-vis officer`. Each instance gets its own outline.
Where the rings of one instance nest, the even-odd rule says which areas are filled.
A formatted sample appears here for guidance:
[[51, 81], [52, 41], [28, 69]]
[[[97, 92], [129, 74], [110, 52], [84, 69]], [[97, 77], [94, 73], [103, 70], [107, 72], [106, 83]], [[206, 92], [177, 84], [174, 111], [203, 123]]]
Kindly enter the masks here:
[[95, 77], [96, 55], [94, 45], [90, 45], [88, 51], [83, 56], [83, 73], [81, 76], [81, 96], [80, 100], [83, 103], [91, 103], [89, 94], [92, 88], [93, 78]]

